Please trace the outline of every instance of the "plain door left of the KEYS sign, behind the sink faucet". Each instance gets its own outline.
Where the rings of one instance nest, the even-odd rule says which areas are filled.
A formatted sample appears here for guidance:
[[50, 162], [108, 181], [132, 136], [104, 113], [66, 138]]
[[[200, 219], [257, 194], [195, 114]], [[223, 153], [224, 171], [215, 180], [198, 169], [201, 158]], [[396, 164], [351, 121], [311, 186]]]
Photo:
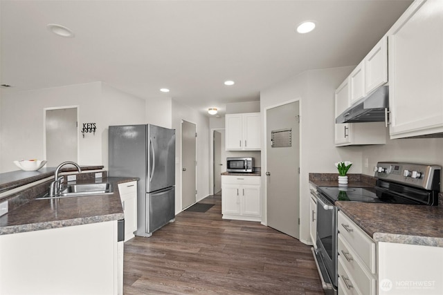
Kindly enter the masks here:
[[46, 166], [78, 162], [77, 108], [47, 109], [45, 117]]

